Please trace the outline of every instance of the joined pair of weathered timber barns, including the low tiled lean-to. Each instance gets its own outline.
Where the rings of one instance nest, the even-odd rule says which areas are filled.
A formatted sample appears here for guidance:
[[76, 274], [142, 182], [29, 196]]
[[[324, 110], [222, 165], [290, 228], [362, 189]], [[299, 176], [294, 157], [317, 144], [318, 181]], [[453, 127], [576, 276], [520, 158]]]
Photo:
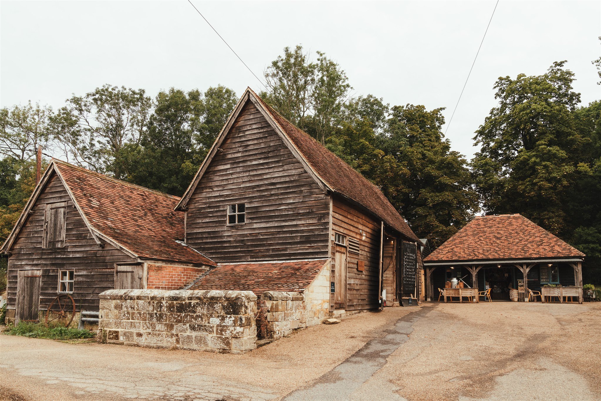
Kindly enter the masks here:
[[[308, 294], [329, 313], [423, 298], [423, 242], [382, 192], [249, 88], [183, 197], [53, 160], [0, 251], [8, 319], [108, 289]], [[319, 281], [319, 283], [318, 283]]]

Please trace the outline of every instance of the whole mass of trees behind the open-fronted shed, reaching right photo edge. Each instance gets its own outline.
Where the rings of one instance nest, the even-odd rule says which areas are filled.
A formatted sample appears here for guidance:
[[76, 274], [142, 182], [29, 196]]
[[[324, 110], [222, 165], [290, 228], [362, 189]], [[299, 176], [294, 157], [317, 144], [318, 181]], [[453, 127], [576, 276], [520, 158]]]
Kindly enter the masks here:
[[499, 105], [476, 131], [474, 182], [486, 213], [521, 213], [587, 254], [601, 277], [601, 102], [579, 107], [565, 61], [501, 77]]

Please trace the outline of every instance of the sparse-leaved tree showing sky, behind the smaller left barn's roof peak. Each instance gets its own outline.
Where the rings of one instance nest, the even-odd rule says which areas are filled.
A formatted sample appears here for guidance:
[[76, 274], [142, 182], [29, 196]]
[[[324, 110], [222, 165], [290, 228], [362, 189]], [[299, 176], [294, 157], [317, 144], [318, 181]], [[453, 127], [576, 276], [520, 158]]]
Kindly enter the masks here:
[[67, 160], [121, 179], [127, 152], [147, 130], [151, 106], [143, 89], [106, 84], [67, 99], [53, 118], [54, 138]]

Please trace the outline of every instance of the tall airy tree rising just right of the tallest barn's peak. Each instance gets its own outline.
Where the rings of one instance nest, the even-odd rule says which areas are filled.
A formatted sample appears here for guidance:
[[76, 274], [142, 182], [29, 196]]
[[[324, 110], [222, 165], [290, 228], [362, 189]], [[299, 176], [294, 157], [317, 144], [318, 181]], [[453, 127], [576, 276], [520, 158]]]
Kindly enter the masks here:
[[323, 52], [311, 61], [297, 45], [293, 51], [285, 47], [264, 76], [267, 91], [261, 96], [291, 123], [325, 143], [352, 89], [344, 70]]

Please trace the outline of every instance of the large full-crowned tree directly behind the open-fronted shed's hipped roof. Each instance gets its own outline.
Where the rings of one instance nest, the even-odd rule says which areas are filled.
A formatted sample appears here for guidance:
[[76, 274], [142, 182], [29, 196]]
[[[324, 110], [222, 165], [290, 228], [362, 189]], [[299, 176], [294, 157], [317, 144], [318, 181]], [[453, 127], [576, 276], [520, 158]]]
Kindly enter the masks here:
[[518, 211], [555, 234], [567, 228], [563, 199], [585, 141], [575, 120], [580, 94], [564, 63], [544, 75], [499, 78], [499, 106], [476, 131], [481, 150], [472, 161], [485, 212]]

